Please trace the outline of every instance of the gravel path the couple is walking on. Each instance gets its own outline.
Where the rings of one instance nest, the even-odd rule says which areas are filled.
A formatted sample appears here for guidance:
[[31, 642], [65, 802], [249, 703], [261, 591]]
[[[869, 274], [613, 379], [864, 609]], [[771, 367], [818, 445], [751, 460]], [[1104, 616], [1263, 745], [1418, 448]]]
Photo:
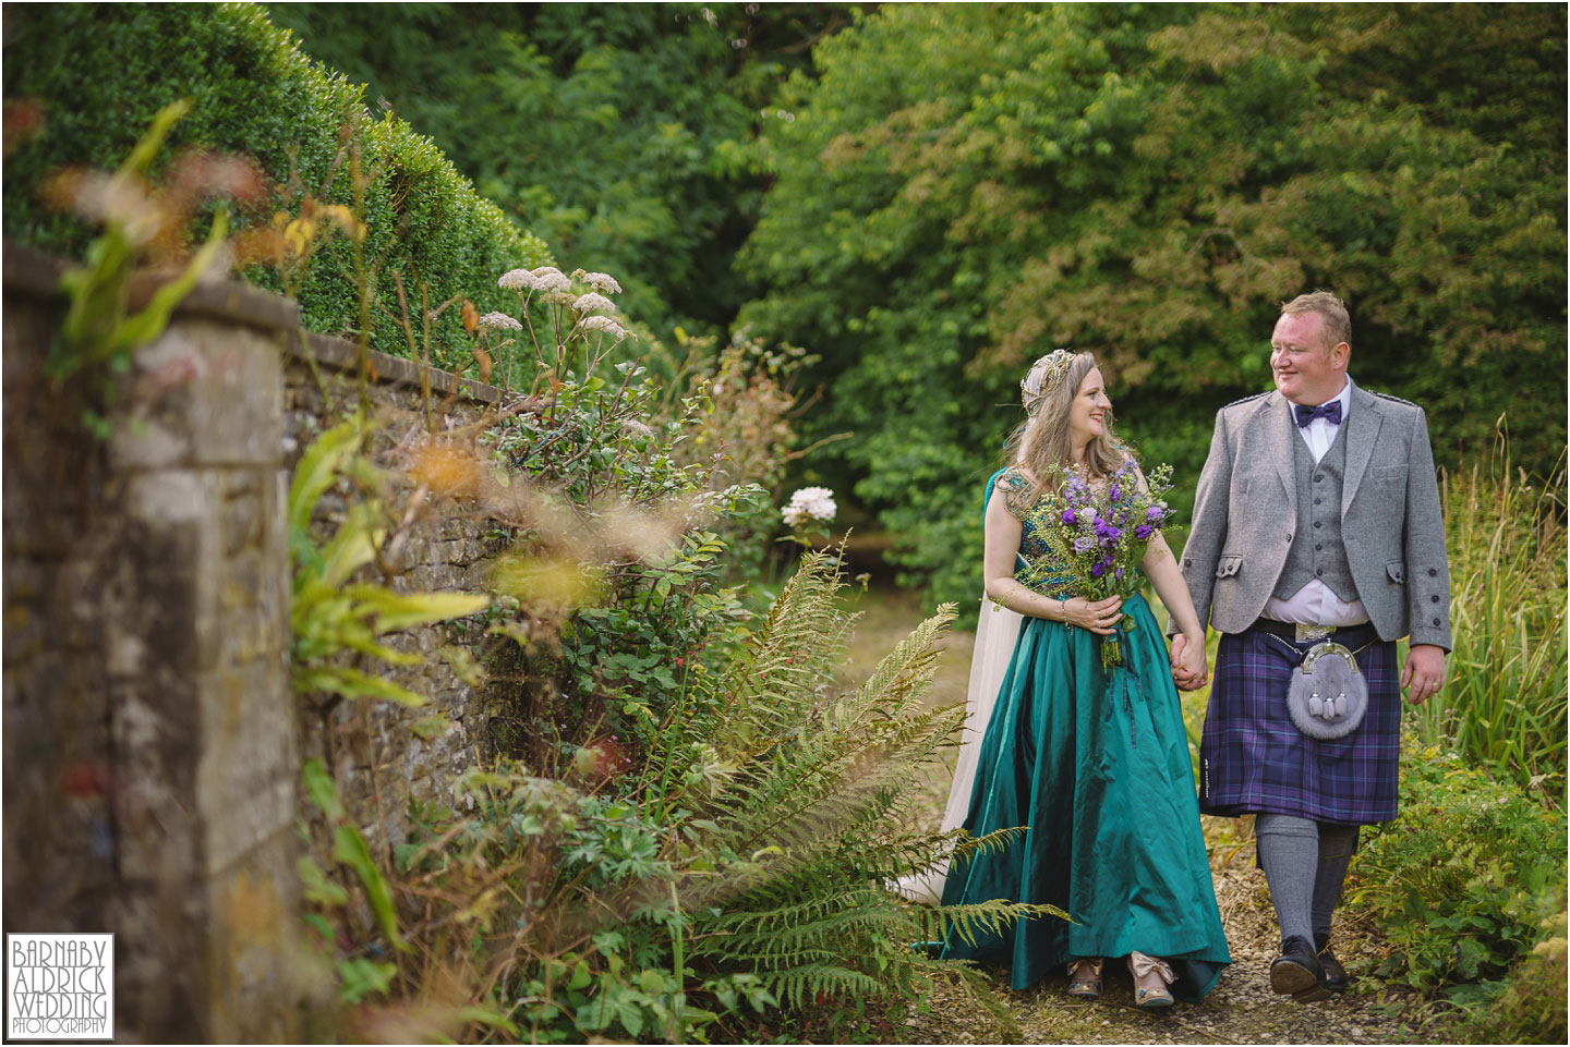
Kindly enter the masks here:
[[[906, 593], [874, 592], [853, 606], [864, 614], [851, 650], [848, 675], [865, 677], [915, 623], [922, 611]], [[962, 702], [970, 666], [967, 633], [947, 639], [929, 700]], [[942, 819], [951, 771], [929, 775], [922, 802], [933, 826]], [[1349, 994], [1322, 1003], [1294, 1003], [1270, 990], [1269, 965], [1278, 943], [1275, 914], [1265, 893], [1264, 874], [1254, 868], [1251, 819], [1204, 818], [1204, 834], [1215, 876], [1217, 903], [1226, 929], [1232, 964], [1215, 989], [1198, 1005], [1178, 1003], [1162, 1011], [1140, 1011], [1126, 967], [1107, 965], [1101, 1000], [1085, 1001], [1066, 994], [1068, 978], [1055, 975], [1025, 992], [1008, 989], [1006, 972], [983, 969], [997, 997], [1010, 1003], [1019, 1027], [1016, 1034], [959, 987], [937, 986], [926, 1008], [914, 1011], [903, 1042], [912, 1044], [1389, 1044], [1410, 1042], [1413, 1034], [1394, 1008], [1374, 995]], [[1372, 958], [1377, 943], [1366, 928], [1338, 915], [1338, 956], [1356, 969]]]

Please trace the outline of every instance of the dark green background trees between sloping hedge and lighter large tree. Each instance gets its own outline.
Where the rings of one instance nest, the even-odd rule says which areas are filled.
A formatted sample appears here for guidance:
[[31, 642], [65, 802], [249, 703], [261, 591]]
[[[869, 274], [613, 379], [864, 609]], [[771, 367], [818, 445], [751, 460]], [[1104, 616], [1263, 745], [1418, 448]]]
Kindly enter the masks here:
[[557, 257], [617, 275], [631, 316], [722, 331], [763, 182], [741, 144], [845, 5], [273, 3], [366, 100], [429, 133]]

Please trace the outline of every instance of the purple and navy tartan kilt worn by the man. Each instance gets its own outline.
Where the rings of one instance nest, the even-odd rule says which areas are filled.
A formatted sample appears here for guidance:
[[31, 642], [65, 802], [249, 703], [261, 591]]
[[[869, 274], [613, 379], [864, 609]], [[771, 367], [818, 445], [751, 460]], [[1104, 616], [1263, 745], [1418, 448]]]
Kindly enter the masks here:
[[1286, 691], [1302, 662], [1292, 644], [1259, 629], [1223, 633], [1199, 742], [1199, 810], [1207, 815], [1295, 815], [1363, 826], [1391, 821], [1400, 757], [1396, 644], [1356, 655], [1369, 688], [1363, 722], [1344, 738], [1314, 739], [1287, 714]]

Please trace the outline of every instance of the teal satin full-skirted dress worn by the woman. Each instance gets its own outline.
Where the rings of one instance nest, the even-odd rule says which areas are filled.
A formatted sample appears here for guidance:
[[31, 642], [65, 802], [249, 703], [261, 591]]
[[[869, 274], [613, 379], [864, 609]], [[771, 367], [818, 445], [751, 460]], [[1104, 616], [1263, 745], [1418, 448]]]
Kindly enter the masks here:
[[[988, 483], [988, 498], [999, 472]], [[1005, 480], [1006, 482], [1006, 480]], [[1028, 523], [1020, 553], [1046, 553]], [[1024, 618], [977, 760], [966, 829], [1027, 826], [1003, 851], [948, 870], [942, 903], [1047, 903], [1041, 917], [970, 945], [950, 934], [945, 959], [1006, 964], [1027, 989], [1071, 959], [1138, 950], [1168, 961], [1171, 992], [1196, 1001], [1231, 962], [1199, 832], [1188, 735], [1162, 631], [1143, 596], [1124, 664], [1105, 672], [1101, 637]]]

